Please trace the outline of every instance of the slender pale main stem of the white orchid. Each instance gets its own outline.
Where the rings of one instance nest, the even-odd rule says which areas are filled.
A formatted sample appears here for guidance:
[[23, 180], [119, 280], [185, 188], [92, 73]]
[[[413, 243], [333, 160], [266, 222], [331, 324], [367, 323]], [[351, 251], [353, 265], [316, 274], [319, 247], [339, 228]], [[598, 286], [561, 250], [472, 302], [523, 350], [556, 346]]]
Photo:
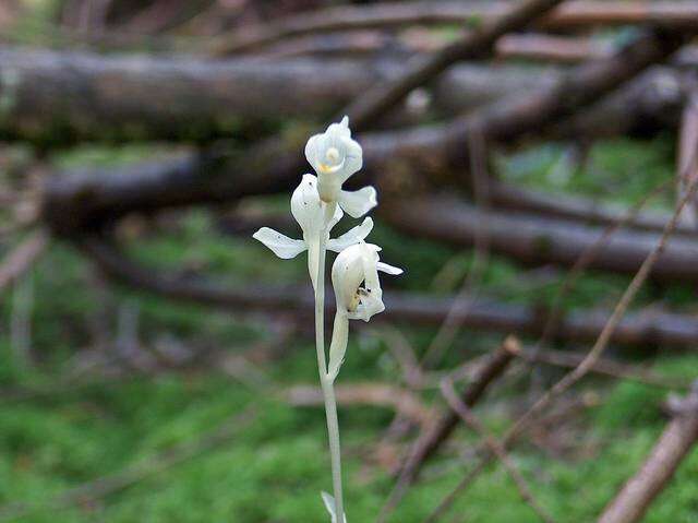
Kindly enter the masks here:
[[[328, 204], [325, 217], [335, 212], [335, 205]], [[324, 224], [327, 219], [324, 221]], [[335, 513], [337, 523], [344, 523], [344, 501], [341, 494], [341, 452], [339, 448], [339, 421], [337, 420], [337, 401], [332, 379], [327, 375], [327, 361], [325, 357], [325, 258], [326, 258], [326, 225], [320, 233], [317, 277], [315, 280], [315, 348], [317, 352], [317, 369], [320, 371], [320, 384], [325, 399], [325, 417], [327, 418], [327, 436], [329, 439], [329, 454], [332, 459], [332, 480], [335, 496]]]

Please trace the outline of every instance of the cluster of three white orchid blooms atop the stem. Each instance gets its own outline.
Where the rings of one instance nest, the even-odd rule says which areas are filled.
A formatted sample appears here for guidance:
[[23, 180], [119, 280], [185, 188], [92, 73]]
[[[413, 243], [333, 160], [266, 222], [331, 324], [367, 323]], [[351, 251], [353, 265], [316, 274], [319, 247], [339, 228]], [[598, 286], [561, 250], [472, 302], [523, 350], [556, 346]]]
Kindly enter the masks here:
[[[400, 274], [400, 269], [378, 259], [380, 247], [364, 240], [373, 229], [373, 219], [366, 217], [337, 238], [330, 238], [332, 228], [344, 212], [359, 218], [376, 206], [373, 187], [345, 191], [342, 185], [361, 169], [361, 145], [351, 139], [349, 119], [330, 124], [322, 134], [312, 136], [305, 145], [305, 157], [317, 176], [303, 175], [291, 197], [291, 214], [303, 231], [303, 239], [289, 238], [269, 227], [262, 227], [253, 237], [262, 241], [279, 258], [296, 258], [308, 250], [308, 269], [315, 286], [320, 248], [338, 252], [332, 269], [332, 282], [337, 298], [337, 310], [348, 319], [369, 321], [385, 309], [377, 271]], [[364, 284], [361, 286], [361, 284]]]

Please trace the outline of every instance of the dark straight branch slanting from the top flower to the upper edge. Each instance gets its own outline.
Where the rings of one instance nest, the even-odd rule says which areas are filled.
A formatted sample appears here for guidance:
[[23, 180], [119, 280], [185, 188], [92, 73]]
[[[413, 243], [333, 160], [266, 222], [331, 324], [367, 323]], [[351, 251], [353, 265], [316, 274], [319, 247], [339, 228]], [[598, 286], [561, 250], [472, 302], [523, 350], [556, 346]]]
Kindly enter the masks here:
[[563, 0], [521, 0], [500, 19], [485, 22], [482, 27], [408, 67], [407, 72], [393, 81], [378, 84], [359, 97], [347, 109], [352, 128], [363, 130], [399, 104], [412, 90], [424, 85], [455, 62], [480, 58], [492, 50], [504, 34], [521, 28], [545, 14]]

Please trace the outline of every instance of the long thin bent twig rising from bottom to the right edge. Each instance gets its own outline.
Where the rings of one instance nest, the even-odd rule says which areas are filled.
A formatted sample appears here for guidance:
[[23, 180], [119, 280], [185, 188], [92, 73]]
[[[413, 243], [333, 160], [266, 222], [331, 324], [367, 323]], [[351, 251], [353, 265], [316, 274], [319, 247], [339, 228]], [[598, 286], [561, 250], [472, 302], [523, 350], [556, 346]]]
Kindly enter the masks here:
[[[695, 164], [696, 158], [694, 157]], [[664, 228], [664, 233], [662, 234], [659, 242], [652, 249], [652, 252], [647, 257], [642, 266], [640, 266], [639, 271], [628, 285], [627, 289], [623, 294], [621, 300], [617, 302], [613, 314], [609, 318], [605, 326], [603, 328], [599, 338], [594, 343], [591, 350], [587, 354], [587, 356], [581, 360], [581, 362], [569, 373], [565, 375], [563, 379], [561, 379], [557, 383], [555, 383], [550, 390], [547, 390], [517, 421], [514, 426], [507, 431], [506, 437], [504, 438], [505, 447], [512, 444], [516, 439], [522, 433], [522, 431], [528, 427], [530, 421], [543, 409], [545, 408], [555, 397], [563, 394], [570, 387], [573, 387], [577, 381], [583, 378], [597, 364], [603, 352], [609, 345], [613, 332], [618, 325], [621, 319], [625, 314], [627, 307], [630, 305], [638, 290], [645, 283], [645, 281], [650, 275], [650, 271], [652, 265], [657, 262], [659, 255], [664, 249], [669, 238], [671, 237], [674, 227], [678, 222], [678, 217], [686, 205], [686, 203], [694, 198], [698, 191], [698, 178], [691, 181], [690, 187], [688, 188], [686, 194], [681, 200], [672, 219]], [[436, 521], [455, 501], [457, 496], [461, 495], [466, 488], [472, 484], [474, 478], [484, 469], [486, 464], [491, 460], [491, 454], [485, 454], [478, 463], [478, 465], [456, 486], [456, 488], [440, 503], [434, 512], [428, 518], [428, 522]]]

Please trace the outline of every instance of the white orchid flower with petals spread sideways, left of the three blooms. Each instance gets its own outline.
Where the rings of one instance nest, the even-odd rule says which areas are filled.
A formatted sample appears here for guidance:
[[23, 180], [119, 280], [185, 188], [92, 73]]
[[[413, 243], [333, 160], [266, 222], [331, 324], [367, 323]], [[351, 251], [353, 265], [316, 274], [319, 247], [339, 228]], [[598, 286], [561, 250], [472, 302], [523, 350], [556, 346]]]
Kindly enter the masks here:
[[[291, 214], [301, 226], [303, 239], [293, 239], [274, 230], [269, 227], [262, 227], [252, 237], [260, 240], [279, 258], [288, 260], [296, 258], [301, 252], [308, 250], [308, 270], [310, 272], [313, 286], [317, 277], [317, 264], [320, 259], [320, 235], [325, 228], [325, 242], [327, 249], [334, 252], [341, 252], [347, 247], [363, 241], [373, 229], [373, 219], [366, 217], [361, 225], [349, 229], [338, 238], [329, 238], [330, 229], [341, 219], [342, 212], [335, 207], [334, 215], [327, 219], [325, 206], [317, 193], [317, 178], [313, 175], [303, 175], [303, 179], [291, 195]], [[327, 223], [325, 224], [325, 221]]]

